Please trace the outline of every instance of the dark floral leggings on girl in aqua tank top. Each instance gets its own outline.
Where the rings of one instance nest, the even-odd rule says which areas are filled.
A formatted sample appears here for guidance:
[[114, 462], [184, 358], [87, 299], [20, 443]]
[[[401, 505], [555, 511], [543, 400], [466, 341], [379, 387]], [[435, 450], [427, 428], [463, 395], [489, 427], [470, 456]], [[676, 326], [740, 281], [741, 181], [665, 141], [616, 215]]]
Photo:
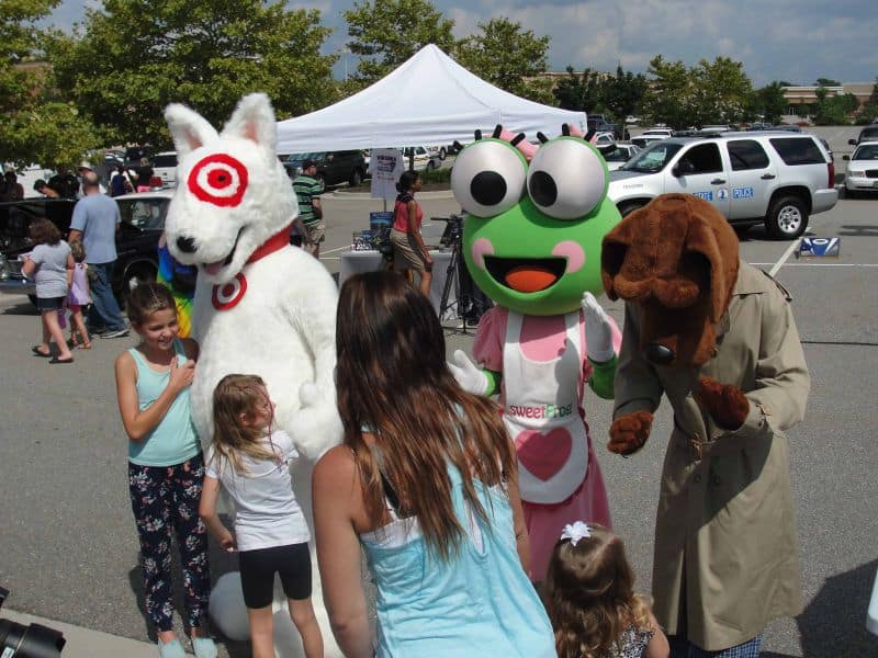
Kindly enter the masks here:
[[128, 462], [131, 507], [140, 535], [140, 566], [146, 612], [159, 631], [173, 629], [171, 530], [177, 535], [183, 568], [185, 623], [206, 623], [211, 595], [207, 531], [199, 518], [204, 458], [175, 466], [139, 466]]

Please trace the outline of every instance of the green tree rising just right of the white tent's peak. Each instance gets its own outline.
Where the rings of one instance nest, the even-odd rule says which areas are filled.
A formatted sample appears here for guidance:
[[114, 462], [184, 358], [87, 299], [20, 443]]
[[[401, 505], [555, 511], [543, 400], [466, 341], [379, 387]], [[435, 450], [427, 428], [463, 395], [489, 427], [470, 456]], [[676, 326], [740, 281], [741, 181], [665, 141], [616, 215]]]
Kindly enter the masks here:
[[553, 101], [551, 81], [539, 78], [545, 72], [548, 36], [537, 36], [506, 18], [479, 23], [479, 30], [458, 44], [461, 66], [516, 95], [541, 103]]

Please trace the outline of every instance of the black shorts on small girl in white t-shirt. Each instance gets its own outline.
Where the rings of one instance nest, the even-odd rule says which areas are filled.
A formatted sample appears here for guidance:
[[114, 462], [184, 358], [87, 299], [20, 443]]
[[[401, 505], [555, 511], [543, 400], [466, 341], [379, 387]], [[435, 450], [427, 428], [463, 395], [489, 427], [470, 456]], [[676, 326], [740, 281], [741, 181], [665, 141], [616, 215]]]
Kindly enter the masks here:
[[271, 605], [274, 598], [274, 574], [281, 577], [288, 599], [311, 598], [311, 553], [308, 544], [272, 546], [238, 554], [244, 604], [247, 608]]

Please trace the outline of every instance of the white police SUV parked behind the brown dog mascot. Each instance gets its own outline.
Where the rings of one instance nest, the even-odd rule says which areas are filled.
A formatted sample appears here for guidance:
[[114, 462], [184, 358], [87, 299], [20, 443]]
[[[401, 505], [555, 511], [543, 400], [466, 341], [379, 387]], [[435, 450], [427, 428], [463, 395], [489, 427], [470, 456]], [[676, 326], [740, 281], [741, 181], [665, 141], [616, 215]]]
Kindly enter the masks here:
[[623, 216], [660, 194], [689, 193], [731, 224], [764, 222], [778, 239], [799, 237], [810, 215], [838, 201], [829, 151], [812, 135], [784, 131], [662, 139], [609, 178], [608, 196]]

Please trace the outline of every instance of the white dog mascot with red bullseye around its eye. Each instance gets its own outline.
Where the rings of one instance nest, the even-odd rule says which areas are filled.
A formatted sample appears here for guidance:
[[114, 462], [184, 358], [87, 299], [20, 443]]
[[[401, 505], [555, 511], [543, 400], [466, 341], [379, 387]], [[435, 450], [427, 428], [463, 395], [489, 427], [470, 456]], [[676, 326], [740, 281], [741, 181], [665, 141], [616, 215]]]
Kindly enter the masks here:
[[[211, 440], [219, 379], [261, 376], [277, 402], [277, 426], [308, 457], [296, 461], [293, 480], [311, 521], [313, 462], [341, 439], [333, 382], [338, 291], [317, 260], [289, 243], [297, 204], [275, 154], [274, 112], [267, 95], [254, 93], [241, 99], [221, 134], [183, 105], [169, 105], [165, 117], [179, 158], [167, 242], [176, 259], [199, 271], [195, 429], [202, 442]], [[314, 608], [327, 656], [338, 655], [313, 546]]]

